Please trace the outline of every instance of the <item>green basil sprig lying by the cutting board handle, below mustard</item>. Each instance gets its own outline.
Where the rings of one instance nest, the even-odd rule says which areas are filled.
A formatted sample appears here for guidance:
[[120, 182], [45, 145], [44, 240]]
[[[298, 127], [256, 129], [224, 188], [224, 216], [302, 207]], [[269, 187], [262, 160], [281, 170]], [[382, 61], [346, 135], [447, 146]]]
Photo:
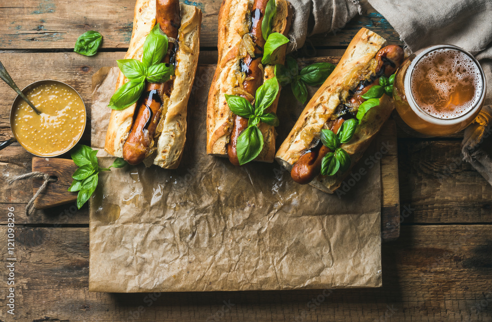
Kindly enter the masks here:
[[77, 195], [77, 207], [79, 209], [94, 193], [100, 171], [111, 171], [111, 168], [123, 168], [126, 165], [126, 161], [122, 158], [116, 158], [109, 168], [101, 168], [97, 163], [96, 154], [97, 150], [83, 145], [78, 146], [71, 154], [73, 162], [80, 168], [72, 175], [73, 181], [68, 187], [68, 191], [79, 192]]

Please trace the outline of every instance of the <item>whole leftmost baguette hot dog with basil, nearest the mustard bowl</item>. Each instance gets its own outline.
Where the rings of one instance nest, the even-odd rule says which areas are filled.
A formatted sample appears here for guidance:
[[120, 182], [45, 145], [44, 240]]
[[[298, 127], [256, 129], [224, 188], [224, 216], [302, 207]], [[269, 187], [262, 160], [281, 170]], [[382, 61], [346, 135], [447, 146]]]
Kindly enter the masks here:
[[[124, 106], [128, 101], [120, 106], [116, 103], [124, 97], [115, 98], [115, 102], [112, 98], [107, 152], [130, 164], [145, 159], [146, 164], [162, 168], [178, 167], [186, 134], [186, 107], [198, 62], [201, 17], [200, 9], [180, 5], [179, 0], [137, 0], [130, 45], [125, 60], [119, 61], [119, 65], [133, 63], [136, 67], [130, 66], [134, 69], [128, 72], [120, 66], [123, 69], [113, 98], [127, 83], [144, 89], [128, 107]], [[160, 41], [163, 38], [165, 46]], [[163, 52], [158, 56], [161, 47]], [[156, 56], [159, 58], [154, 61]], [[163, 76], [166, 73], [169, 75]], [[132, 76], [135, 79], [129, 79]]]

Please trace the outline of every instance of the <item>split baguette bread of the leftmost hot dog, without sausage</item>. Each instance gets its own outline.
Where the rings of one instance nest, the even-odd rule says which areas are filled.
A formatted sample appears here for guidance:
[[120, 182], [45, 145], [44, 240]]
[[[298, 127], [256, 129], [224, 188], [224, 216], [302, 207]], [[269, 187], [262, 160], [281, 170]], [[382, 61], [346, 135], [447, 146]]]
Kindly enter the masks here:
[[[179, 48], [176, 53], [177, 65], [173, 90], [171, 96], [163, 100], [162, 117], [157, 126], [160, 135], [156, 149], [144, 160], [146, 164], [154, 163], [166, 169], [177, 168], [183, 154], [186, 137], [186, 107], [195, 78], [200, 50], [202, 12], [192, 5], [180, 4], [180, 6], [181, 28], [178, 33]], [[130, 45], [124, 59], [142, 60], [145, 38], [155, 26], [155, 14], [155, 0], [137, 0]], [[116, 89], [126, 82], [128, 79], [120, 72]], [[104, 148], [114, 156], [123, 156], [123, 144], [133, 123], [136, 104], [121, 111], [111, 111]]]

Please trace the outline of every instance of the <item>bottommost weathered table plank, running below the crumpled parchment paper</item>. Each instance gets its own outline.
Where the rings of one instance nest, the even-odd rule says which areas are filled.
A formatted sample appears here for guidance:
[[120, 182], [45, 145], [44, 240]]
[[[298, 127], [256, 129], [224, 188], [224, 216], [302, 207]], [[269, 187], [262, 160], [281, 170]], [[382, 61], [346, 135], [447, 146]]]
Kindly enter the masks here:
[[15, 321], [490, 321], [491, 240], [486, 225], [402, 227], [377, 289], [111, 294], [88, 292], [87, 228], [18, 227]]

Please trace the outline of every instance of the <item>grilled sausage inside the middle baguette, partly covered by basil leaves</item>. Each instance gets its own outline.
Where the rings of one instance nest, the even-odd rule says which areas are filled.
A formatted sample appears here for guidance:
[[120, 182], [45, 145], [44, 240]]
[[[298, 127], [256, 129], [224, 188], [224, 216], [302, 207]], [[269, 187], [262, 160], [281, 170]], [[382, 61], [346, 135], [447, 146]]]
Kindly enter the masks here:
[[[263, 47], [265, 46], [265, 39], [261, 33], [261, 23], [263, 21], [263, 16], [265, 14], [265, 8], [267, 6], [268, 0], [255, 0], [251, 10], [251, 28], [249, 30], [254, 44], [255, 54], [262, 54]], [[256, 55], [255, 55], [256, 56]], [[263, 80], [263, 73], [261, 69], [261, 56], [259, 58], [252, 58], [247, 54], [247, 56], [241, 62], [241, 71], [246, 74], [246, 78], [243, 82], [243, 88], [254, 97], [256, 90], [260, 87]], [[241, 95], [247, 99], [245, 95]], [[238, 138], [241, 132], [246, 129], [248, 119], [245, 117], [240, 117], [234, 115], [232, 130], [229, 136], [229, 143], [227, 144], [227, 156], [229, 161], [235, 166], [239, 166], [238, 151], [236, 149]]]

